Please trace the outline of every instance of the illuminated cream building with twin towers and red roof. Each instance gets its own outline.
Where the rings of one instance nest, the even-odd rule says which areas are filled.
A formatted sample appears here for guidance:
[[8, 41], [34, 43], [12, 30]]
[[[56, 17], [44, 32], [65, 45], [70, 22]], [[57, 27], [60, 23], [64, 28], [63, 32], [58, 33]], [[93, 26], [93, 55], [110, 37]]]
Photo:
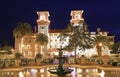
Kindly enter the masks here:
[[[60, 33], [64, 30], [50, 30], [50, 20], [49, 20], [49, 12], [48, 11], [41, 11], [37, 12], [38, 19], [37, 24], [38, 28], [35, 27], [34, 29], [34, 35], [33, 36], [25, 36], [21, 40], [21, 44], [15, 41], [15, 51], [19, 51], [20, 53], [23, 53], [23, 55], [27, 58], [33, 58], [35, 57], [36, 53], [38, 53], [38, 45], [35, 43], [36, 35], [38, 33], [44, 33], [48, 36], [48, 44], [47, 49], [45, 49], [45, 46], [42, 47], [41, 54], [50, 54], [50, 55], [58, 55], [57, 48], [60, 48], [61, 46], [64, 47], [69, 42], [69, 37], [65, 39], [65, 41], [61, 41], [58, 36]], [[84, 21], [84, 18], [82, 17], [83, 10], [74, 10], [71, 11], [71, 20], [70, 23], [74, 23], [75, 25], [79, 24], [79, 21]], [[79, 24], [79, 26], [83, 26], [84, 23]], [[36, 30], [38, 29], [38, 30]], [[87, 27], [84, 26], [84, 31], [87, 30]], [[109, 42], [114, 44], [114, 36], [109, 36], [109, 32], [101, 31], [100, 28], [97, 29], [97, 32], [100, 34], [107, 36], [109, 38]], [[97, 32], [91, 32], [91, 36], [95, 37]], [[104, 54], [109, 54], [109, 49], [107, 49]], [[63, 51], [64, 55], [74, 55], [74, 52], [67, 52]], [[93, 54], [97, 54], [96, 49], [89, 49], [86, 51], [79, 51], [77, 50], [77, 53], [80, 53], [80, 55], [86, 55], [86, 56], [92, 56]]]

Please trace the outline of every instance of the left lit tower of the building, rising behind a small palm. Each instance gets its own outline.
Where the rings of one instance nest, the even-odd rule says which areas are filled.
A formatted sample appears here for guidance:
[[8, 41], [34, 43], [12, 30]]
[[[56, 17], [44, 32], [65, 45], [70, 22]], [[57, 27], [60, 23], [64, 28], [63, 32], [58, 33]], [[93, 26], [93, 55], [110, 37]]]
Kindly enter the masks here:
[[44, 33], [48, 35], [48, 30], [50, 25], [49, 12], [42, 11], [42, 12], [37, 12], [37, 14], [38, 14], [38, 19], [37, 19], [38, 33]]

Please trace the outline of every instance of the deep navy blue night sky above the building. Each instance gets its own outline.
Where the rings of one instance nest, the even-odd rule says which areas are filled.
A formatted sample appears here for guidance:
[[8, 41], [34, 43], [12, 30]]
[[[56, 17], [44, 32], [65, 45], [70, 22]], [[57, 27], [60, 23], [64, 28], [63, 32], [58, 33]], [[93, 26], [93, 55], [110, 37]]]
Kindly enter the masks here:
[[50, 28], [64, 29], [71, 10], [84, 10], [83, 18], [90, 31], [102, 28], [120, 39], [119, 0], [0, 0], [0, 43], [14, 44], [13, 29], [18, 22], [37, 25], [37, 11], [49, 11]]

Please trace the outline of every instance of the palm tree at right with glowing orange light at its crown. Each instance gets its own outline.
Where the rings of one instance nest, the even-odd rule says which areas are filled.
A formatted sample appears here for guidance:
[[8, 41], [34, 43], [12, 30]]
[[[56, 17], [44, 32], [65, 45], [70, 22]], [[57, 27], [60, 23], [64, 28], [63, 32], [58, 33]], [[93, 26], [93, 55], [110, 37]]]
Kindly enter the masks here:
[[102, 48], [105, 48], [106, 46], [109, 47], [109, 42], [107, 36], [103, 36], [98, 33], [98, 35], [94, 38], [94, 45], [96, 46], [98, 56], [102, 56]]

